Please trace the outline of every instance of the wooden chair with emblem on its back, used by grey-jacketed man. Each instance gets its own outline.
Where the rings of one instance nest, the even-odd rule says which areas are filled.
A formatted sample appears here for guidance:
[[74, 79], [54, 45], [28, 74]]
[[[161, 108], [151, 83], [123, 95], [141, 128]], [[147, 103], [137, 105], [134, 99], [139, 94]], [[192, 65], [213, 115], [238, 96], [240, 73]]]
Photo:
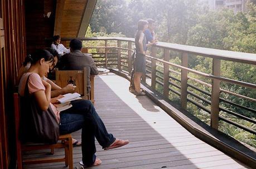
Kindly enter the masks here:
[[84, 99], [88, 99], [91, 102], [94, 100], [94, 75], [90, 76], [91, 91], [87, 93], [87, 81], [86, 81], [86, 68], [78, 71], [59, 71], [56, 68], [56, 84], [60, 87], [65, 87], [67, 84], [74, 84], [76, 86], [75, 92], [79, 93]]

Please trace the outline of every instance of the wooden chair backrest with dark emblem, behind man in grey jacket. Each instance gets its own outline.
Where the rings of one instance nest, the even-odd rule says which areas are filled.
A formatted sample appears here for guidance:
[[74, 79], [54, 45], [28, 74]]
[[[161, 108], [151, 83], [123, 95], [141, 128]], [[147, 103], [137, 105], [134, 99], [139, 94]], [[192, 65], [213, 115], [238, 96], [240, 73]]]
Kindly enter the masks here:
[[76, 86], [75, 92], [81, 96], [87, 96], [87, 81], [86, 81], [86, 67], [79, 71], [59, 71], [56, 69], [56, 84], [65, 87], [67, 84], [74, 84]]

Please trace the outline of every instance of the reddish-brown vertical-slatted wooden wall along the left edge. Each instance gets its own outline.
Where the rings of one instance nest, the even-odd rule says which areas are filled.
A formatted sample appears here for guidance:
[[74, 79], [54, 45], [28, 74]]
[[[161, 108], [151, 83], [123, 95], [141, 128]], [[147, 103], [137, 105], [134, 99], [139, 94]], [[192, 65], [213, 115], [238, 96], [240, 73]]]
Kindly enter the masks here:
[[15, 167], [12, 94], [26, 54], [24, 1], [0, 0], [0, 168]]

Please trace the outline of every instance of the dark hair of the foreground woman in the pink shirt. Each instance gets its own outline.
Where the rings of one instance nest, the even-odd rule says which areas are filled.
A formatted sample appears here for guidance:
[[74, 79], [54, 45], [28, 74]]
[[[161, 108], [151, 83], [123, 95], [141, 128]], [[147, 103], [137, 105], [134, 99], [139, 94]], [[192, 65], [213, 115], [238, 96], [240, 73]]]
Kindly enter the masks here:
[[44, 58], [45, 61], [54, 61], [54, 56], [52, 56], [52, 54], [49, 51], [46, 51], [45, 49], [37, 49], [31, 55], [30, 54], [27, 55], [23, 65], [26, 66], [27, 63], [35, 64], [41, 58]]

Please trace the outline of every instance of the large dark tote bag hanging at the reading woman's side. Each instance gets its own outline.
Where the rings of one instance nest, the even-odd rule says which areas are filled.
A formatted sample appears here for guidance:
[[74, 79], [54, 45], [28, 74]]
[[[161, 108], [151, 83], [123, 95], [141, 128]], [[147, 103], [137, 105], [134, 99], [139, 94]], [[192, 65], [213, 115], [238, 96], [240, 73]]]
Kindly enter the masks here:
[[42, 111], [36, 98], [28, 91], [28, 76], [25, 93], [21, 97], [20, 139], [22, 142], [54, 144], [59, 139], [59, 124], [51, 109]]

